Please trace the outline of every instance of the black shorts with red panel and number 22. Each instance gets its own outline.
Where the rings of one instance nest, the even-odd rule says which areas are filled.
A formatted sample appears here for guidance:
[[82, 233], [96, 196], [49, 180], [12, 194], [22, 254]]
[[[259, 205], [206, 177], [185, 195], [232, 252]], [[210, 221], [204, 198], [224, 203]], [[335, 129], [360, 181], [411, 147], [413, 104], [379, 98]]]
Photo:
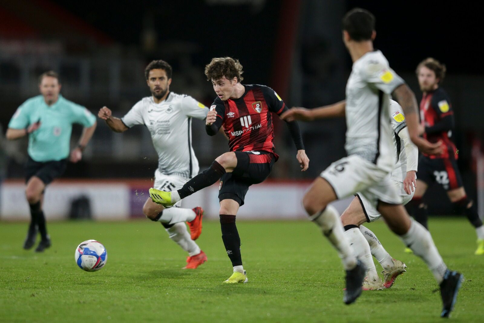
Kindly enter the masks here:
[[427, 185], [437, 182], [446, 191], [462, 187], [462, 178], [454, 157], [431, 159], [420, 156], [417, 178]]

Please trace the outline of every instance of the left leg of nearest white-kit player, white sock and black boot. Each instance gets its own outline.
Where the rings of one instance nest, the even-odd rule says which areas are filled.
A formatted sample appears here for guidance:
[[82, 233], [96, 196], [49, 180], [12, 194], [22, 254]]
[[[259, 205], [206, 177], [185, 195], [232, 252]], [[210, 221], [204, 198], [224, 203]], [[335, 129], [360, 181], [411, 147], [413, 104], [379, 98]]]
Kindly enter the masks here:
[[343, 301], [353, 303], [362, 292], [365, 269], [355, 257], [343, 233], [343, 225], [338, 212], [328, 204], [336, 200], [333, 187], [324, 178], [316, 178], [309, 191], [304, 195], [302, 204], [310, 219], [317, 224], [338, 252], [346, 270], [346, 290]]

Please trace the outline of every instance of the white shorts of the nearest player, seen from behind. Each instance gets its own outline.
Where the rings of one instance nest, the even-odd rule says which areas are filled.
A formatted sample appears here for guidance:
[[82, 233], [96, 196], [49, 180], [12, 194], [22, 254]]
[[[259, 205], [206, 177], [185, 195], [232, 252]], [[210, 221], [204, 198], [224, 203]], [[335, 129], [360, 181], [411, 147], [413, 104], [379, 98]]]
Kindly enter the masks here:
[[358, 155], [333, 162], [321, 173], [321, 177], [333, 186], [338, 199], [359, 193], [375, 203], [402, 203], [400, 190], [393, 184], [391, 173]]

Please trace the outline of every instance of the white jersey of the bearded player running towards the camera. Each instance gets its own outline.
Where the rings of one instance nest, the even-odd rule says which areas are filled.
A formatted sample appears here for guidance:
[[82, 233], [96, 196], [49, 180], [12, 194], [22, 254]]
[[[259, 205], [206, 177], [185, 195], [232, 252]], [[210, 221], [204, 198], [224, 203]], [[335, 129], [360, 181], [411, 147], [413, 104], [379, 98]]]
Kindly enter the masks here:
[[193, 97], [169, 92], [158, 104], [144, 97], [121, 118], [131, 128], [145, 125], [158, 153], [158, 170], [164, 175], [192, 178], [198, 160], [192, 148], [192, 117], [205, 119], [209, 109]]

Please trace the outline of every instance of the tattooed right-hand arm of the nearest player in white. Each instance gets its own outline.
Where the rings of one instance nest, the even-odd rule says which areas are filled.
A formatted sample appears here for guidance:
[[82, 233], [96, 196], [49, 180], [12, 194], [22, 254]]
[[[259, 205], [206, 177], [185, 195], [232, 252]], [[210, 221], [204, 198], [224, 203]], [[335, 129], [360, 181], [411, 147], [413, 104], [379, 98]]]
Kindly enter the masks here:
[[412, 90], [410, 90], [407, 84], [401, 84], [393, 91], [392, 94], [396, 98], [396, 101], [402, 106], [403, 113], [405, 114], [405, 119], [407, 121], [410, 140], [426, 154], [440, 154], [442, 152], [440, 142], [432, 144], [422, 137], [419, 137], [417, 99], [415, 98]]

